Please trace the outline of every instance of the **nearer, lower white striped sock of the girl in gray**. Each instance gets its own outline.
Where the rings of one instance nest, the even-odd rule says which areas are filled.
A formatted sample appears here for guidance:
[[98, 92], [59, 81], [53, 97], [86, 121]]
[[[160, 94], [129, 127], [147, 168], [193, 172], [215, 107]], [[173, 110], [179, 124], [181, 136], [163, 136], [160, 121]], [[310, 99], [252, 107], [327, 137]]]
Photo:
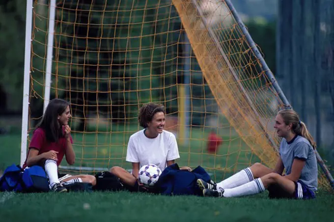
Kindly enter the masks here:
[[247, 184], [241, 185], [236, 188], [226, 189], [223, 192], [224, 197], [237, 197], [245, 195], [253, 195], [266, 190], [260, 178], [257, 178]]

